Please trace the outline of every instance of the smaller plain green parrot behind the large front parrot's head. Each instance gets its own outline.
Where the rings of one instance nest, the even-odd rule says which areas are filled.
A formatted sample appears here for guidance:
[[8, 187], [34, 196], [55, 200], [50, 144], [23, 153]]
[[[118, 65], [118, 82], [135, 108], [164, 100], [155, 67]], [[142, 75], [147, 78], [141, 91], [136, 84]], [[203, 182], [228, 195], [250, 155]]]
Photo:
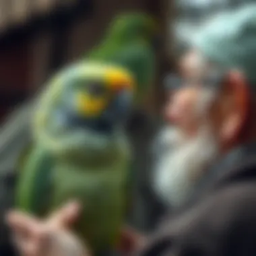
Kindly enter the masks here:
[[135, 104], [150, 92], [156, 75], [155, 42], [158, 25], [147, 13], [123, 13], [110, 23], [98, 46], [86, 53], [85, 60], [121, 65], [135, 77]]

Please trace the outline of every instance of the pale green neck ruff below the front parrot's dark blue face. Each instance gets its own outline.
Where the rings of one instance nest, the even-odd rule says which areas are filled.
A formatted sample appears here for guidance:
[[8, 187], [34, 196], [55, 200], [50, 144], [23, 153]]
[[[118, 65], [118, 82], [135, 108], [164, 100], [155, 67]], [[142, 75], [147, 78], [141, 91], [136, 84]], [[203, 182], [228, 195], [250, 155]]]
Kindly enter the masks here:
[[100, 135], [95, 131], [84, 129], [59, 136], [44, 133], [40, 143], [62, 162], [91, 166], [115, 161], [127, 154], [124, 149], [128, 145], [126, 136], [121, 131], [111, 135]]

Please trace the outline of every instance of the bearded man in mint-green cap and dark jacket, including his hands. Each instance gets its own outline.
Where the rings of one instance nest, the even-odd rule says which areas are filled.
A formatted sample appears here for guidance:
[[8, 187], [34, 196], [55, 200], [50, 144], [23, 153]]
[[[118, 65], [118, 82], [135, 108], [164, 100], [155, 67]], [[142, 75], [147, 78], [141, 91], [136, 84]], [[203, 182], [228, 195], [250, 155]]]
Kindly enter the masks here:
[[[175, 211], [149, 236], [124, 231], [123, 247], [131, 255], [256, 255], [255, 39], [252, 4], [218, 15], [181, 57], [181, 87], [164, 110], [172, 122], [166, 132], [170, 154], [154, 178], [158, 195]], [[72, 211], [77, 214], [77, 208]], [[69, 214], [61, 216], [70, 224]], [[7, 217], [22, 255], [42, 255], [38, 250], [48, 248], [49, 239], [38, 239], [38, 233], [45, 238], [64, 230], [74, 245], [68, 226], [49, 225], [52, 218], [35, 220], [19, 212]], [[65, 255], [60, 242], [51, 245]], [[78, 254], [73, 249], [69, 255]]]

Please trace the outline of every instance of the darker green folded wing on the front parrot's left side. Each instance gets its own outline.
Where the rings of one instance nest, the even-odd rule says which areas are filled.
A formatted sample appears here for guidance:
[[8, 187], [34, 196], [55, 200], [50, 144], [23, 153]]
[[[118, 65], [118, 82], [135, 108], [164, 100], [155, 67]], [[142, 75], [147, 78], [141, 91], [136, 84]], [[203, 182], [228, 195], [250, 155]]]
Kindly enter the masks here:
[[30, 148], [22, 159], [16, 203], [20, 210], [44, 216], [49, 209], [53, 158], [41, 147]]

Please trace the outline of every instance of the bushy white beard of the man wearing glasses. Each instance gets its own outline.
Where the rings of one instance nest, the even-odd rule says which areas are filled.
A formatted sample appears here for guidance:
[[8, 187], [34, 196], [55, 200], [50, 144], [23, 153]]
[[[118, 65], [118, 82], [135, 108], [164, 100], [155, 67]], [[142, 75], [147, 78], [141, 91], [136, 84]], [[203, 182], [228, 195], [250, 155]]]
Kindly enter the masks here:
[[165, 147], [156, 164], [154, 189], [166, 205], [179, 207], [189, 199], [205, 168], [216, 158], [218, 145], [207, 129], [186, 141], [177, 129], [168, 127], [160, 140]]

